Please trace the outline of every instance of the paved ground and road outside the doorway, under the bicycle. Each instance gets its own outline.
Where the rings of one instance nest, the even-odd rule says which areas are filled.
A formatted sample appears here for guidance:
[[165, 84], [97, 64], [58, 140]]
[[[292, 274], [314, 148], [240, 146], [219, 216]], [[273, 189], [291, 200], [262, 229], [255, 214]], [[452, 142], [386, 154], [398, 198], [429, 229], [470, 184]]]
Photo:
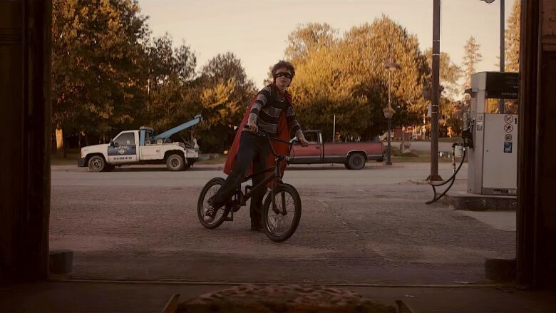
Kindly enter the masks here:
[[[441, 175], [451, 175], [441, 163]], [[465, 165], [464, 165], [465, 166]], [[218, 165], [169, 173], [130, 167], [88, 173], [53, 167], [51, 249], [74, 251], [73, 277], [212, 282], [485, 282], [488, 257], [515, 257], [515, 232], [426, 205], [428, 165], [296, 165], [284, 180], [302, 196], [299, 229], [276, 244], [249, 230], [244, 207], [217, 230], [197, 220]], [[455, 188], [465, 188], [466, 170]]]

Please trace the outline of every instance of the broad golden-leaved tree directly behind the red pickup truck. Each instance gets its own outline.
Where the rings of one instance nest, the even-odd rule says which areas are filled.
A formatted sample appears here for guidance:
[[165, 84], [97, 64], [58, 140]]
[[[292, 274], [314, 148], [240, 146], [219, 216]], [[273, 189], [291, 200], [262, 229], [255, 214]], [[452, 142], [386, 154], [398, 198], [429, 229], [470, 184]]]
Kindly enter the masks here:
[[323, 130], [332, 138], [332, 121], [344, 138], [371, 139], [386, 129], [382, 110], [388, 98], [392, 56], [401, 69], [392, 73], [393, 123], [411, 125], [426, 112], [423, 83], [430, 69], [416, 36], [386, 16], [355, 26], [333, 45], [301, 54], [292, 62], [297, 74], [290, 91], [304, 128]]

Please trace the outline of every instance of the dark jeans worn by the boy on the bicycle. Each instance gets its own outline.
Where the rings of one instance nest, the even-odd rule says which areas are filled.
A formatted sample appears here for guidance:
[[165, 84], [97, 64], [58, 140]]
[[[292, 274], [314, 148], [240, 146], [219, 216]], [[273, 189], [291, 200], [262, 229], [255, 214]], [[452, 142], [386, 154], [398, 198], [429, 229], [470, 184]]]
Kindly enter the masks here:
[[[217, 193], [212, 197], [212, 207], [220, 208], [222, 205], [225, 205], [227, 200], [234, 195], [235, 190], [240, 188], [251, 164], [253, 165], [253, 173], [267, 168], [269, 152], [270, 145], [268, 138], [243, 131], [240, 138], [240, 148], [236, 155], [235, 166], [222, 187], [220, 187]], [[265, 173], [259, 174], [253, 178], [253, 186], [264, 180], [264, 174]], [[261, 222], [262, 199], [266, 192], [267, 188], [259, 188], [259, 190], [254, 191], [251, 197], [251, 207], [249, 210], [251, 213], [251, 224], [259, 224]]]

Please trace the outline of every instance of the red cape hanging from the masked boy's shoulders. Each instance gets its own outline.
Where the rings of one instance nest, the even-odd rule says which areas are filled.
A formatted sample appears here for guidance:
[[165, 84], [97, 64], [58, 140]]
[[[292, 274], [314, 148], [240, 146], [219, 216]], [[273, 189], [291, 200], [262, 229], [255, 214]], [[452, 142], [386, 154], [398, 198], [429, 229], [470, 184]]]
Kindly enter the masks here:
[[[274, 88], [274, 91], [277, 91], [277, 87], [274, 84], [270, 84], [269, 85], [271, 88]], [[252, 101], [249, 103], [249, 106], [247, 107], [247, 111], [245, 111], [244, 115], [243, 115], [243, 119], [242, 122], [240, 123], [240, 127], [237, 128], [237, 133], [235, 134], [235, 138], [234, 138], [234, 142], [232, 143], [232, 147], [230, 148], [230, 151], [228, 152], [228, 156], [226, 159], [226, 164], [224, 165], [224, 173], [226, 173], [227, 175], [230, 175], [230, 173], [232, 172], [232, 168], [234, 168], [235, 165], [235, 156], [237, 155], [237, 150], [240, 148], [240, 138], [242, 135], [242, 130], [243, 130], [243, 126], [247, 123], [247, 119], [249, 118], [249, 113], [251, 113], [251, 106], [253, 105], [254, 101], [257, 100], [257, 96], [259, 94], [257, 93]], [[286, 98], [286, 101], [289, 102], [289, 104], [292, 104], [292, 95], [290, 95], [287, 91], [286, 93], [284, 93], [284, 96]], [[284, 112], [282, 112], [282, 114], [280, 114], [280, 118], [279, 118], [279, 122], [278, 122], [278, 138], [282, 139], [282, 140], [289, 140], [289, 127], [288, 127], [288, 123], [286, 120], [286, 114]], [[289, 147], [287, 144], [285, 143], [279, 143], [275, 140], [271, 140], [272, 143], [272, 148], [274, 148], [274, 151], [276, 151], [276, 153], [281, 154], [281, 155], [289, 155]], [[272, 152], [269, 152], [268, 155], [268, 167], [273, 167], [274, 166], [274, 155], [272, 155]], [[280, 163], [280, 169], [281, 169], [281, 173], [282, 175], [284, 175], [284, 169], [286, 168], [286, 161], [282, 160], [282, 162]], [[267, 175], [270, 175], [272, 172], [267, 173]], [[252, 174], [252, 166], [249, 168], [249, 170], [247, 171], [247, 175], [251, 175]], [[269, 187], [272, 185], [272, 182], [269, 183]]]

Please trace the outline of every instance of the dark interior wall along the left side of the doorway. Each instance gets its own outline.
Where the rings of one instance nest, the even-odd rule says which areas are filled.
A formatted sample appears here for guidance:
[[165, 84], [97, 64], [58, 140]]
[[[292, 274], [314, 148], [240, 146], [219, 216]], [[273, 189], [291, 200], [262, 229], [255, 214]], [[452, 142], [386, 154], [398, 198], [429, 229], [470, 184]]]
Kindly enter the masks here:
[[0, 282], [48, 277], [51, 1], [0, 0]]

